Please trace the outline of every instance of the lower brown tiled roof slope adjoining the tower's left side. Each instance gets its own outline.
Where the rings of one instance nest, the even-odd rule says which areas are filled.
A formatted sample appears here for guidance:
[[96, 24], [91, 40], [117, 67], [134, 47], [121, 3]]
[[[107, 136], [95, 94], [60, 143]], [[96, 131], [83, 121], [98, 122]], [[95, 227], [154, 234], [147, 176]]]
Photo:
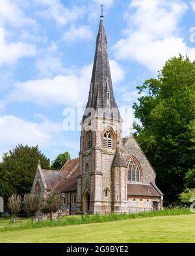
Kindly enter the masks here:
[[76, 191], [77, 190], [77, 176], [79, 174], [79, 167], [63, 182], [60, 182], [55, 189], [61, 192]]

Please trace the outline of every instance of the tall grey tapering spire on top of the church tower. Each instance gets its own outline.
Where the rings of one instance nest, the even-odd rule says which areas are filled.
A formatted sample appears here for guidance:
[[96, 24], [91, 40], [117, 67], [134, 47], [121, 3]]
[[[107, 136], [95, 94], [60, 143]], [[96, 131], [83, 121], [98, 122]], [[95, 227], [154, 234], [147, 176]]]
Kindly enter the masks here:
[[[99, 22], [94, 67], [86, 108], [94, 108], [96, 110], [96, 116], [100, 115], [98, 110], [99, 108], [106, 109], [107, 113], [109, 113], [111, 109], [115, 109], [114, 120], [118, 118], [121, 120], [112, 89], [112, 78], [110, 74], [109, 56], [107, 54], [107, 36], [104, 29], [103, 13], [101, 14]], [[86, 117], [87, 116], [84, 116], [83, 120], [85, 120]]]

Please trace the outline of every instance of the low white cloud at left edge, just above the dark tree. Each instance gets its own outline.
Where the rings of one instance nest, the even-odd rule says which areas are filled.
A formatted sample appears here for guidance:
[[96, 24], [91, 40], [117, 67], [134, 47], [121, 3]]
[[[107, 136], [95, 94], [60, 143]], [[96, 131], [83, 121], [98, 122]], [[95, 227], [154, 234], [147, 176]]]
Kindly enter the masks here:
[[62, 133], [62, 125], [47, 119], [34, 123], [16, 116], [0, 116], [0, 157], [17, 144], [39, 145], [40, 148], [53, 146], [53, 138]]

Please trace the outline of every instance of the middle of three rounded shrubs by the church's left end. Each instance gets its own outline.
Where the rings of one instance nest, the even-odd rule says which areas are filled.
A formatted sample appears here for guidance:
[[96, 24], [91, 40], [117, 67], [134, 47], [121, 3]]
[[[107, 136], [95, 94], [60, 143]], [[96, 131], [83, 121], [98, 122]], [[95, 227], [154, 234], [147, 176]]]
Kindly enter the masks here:
[[25, 194], [23, 208], [27, 214], [35, 214], [36, 211], [40, 210], [40, 197], [32, 193]]

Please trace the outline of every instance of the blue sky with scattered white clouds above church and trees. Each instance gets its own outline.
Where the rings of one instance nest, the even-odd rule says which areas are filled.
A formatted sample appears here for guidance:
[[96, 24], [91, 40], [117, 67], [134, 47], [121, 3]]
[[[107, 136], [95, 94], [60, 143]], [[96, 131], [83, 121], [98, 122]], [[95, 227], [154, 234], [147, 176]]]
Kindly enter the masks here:
[[131, 109], [170, 57], [195, 59], [194, 0], [1, 0], [0, 157], [18, 143], [78, 156], [80, 132], [62, 129], [62, 112], [85, 107], [101, 3], [118, 106]]

